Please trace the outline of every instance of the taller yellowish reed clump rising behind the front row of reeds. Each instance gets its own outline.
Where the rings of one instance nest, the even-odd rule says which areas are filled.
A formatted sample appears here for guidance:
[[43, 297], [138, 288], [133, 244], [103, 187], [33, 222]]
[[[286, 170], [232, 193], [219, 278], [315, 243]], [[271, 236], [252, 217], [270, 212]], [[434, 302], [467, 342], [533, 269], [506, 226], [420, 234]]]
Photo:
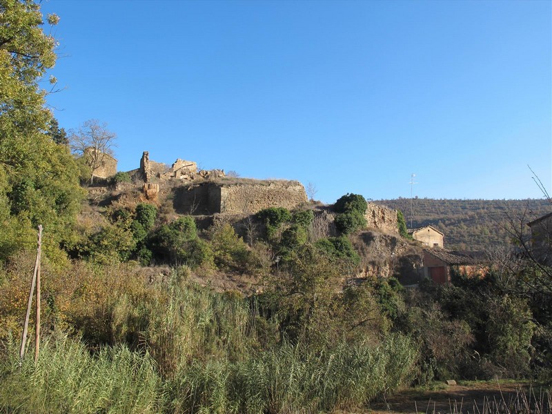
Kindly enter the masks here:
[[186, 268], [172, 273], [148, 297], [122, 295], [112, 307], [117, 342], [147, 349], [164, 377], [194, 359], [244, 359], [255, 337], [241, 295], [215, 293], [187, 281]]

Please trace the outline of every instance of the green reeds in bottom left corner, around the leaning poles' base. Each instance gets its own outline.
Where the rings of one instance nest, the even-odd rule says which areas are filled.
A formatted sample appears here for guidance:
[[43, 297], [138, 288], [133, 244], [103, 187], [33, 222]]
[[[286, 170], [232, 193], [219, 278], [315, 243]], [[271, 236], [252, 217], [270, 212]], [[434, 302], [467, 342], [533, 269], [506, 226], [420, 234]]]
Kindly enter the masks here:
[[159, 413], [163, 396], [155, 364], [125, 346], [86, 347], [66, 336], [19, 361], [16, 346], [0, 364], [0, 410], [6, 413]]

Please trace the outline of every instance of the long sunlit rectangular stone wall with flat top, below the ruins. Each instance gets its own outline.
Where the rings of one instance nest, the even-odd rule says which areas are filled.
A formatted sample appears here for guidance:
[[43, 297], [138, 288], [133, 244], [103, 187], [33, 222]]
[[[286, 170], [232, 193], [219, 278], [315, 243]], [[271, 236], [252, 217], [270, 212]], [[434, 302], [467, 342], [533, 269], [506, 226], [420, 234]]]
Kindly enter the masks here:
[[295, 208], [307, 202], [299, 181], [240, 180], [220, 187], [220, 213], [257, 213], [263, 208]]

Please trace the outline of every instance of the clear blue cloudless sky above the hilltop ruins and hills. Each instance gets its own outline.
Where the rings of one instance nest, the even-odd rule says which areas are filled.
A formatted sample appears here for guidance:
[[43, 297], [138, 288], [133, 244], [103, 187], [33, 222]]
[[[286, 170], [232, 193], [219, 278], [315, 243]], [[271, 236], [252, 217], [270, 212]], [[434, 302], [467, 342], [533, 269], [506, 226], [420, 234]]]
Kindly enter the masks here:
[[[60, 1], [60, 126], [331, 203], [551, 191], [550, 1]], [[552, 193], [552, 192], [551, 192]]]

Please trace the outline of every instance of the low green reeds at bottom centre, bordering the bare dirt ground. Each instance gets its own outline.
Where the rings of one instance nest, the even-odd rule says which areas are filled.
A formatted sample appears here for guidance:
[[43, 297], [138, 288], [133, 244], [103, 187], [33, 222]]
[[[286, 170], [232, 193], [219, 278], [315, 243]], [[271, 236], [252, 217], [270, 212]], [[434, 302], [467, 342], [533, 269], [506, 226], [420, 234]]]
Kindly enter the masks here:
[[194, 362], [169, 384], [175, 413], [319, 413], [361, 406], [411, 379], [406, 337], [322, 353], [282, 344], [243, 362]]

